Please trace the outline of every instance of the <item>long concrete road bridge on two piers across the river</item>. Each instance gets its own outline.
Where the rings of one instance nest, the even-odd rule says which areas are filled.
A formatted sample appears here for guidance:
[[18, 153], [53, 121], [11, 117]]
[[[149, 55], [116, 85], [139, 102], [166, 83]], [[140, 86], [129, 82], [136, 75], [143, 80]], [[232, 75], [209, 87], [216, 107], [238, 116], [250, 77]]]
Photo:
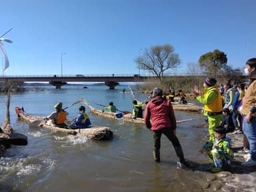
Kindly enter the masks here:
[[105, 82], [109, 89], [115, 89], [119, 82], [141, 82], [149, 78], [155, 78], [155, 75], [5, 75], [0, 77], [0, 81], [19, 81], [19, 82], [47, 82], [54, 85], [56, 89], [69, 82]]

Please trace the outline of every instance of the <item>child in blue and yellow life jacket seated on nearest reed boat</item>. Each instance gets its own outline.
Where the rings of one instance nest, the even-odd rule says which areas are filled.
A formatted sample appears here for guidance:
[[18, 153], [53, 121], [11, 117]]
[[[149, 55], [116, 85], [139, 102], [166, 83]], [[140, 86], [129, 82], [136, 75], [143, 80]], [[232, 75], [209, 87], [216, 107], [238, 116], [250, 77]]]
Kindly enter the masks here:
[[85, 107], [79, 107], [79, 115], [73, 119], [73, 122], [70, 126], [71, 129], [83, 129], [89, 127], [90, 125], [91, 121], [87, 113], [85, 113]]

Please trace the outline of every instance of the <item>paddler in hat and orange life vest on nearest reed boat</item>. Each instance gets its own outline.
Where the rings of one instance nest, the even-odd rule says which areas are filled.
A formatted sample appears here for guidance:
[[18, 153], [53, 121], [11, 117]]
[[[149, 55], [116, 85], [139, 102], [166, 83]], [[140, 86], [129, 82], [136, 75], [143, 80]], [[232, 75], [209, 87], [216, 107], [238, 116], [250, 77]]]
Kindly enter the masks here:
[[62, 109], [61, 102], [54, 105], [54, 108], [56, 111], [53, 111], [53, 113], [47, 117], [47, 119], [49, 119], [47, 124], [55, 125], [57, 127], [65, 127], [64, 121], [67, 120], [67, 115], [69, 115], [69, 113]]

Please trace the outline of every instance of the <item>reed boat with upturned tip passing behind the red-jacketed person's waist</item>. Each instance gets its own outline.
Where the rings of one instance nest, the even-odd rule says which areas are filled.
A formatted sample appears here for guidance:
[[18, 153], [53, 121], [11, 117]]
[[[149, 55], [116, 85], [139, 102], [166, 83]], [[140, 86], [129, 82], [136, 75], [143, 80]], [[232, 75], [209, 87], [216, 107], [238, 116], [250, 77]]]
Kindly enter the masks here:
[[[116, 117], [116, 113], [112, 113], [112, 112], [106, 112], [106, 111], [101, 111], [99, 109], [95, 109], [94, 107], [92, 107], [87, 101], [83, 100], [83, 103], [85, 103], [85, 105], [90, 109], [91, 113], [94, 113], [95, 115], [99, 115], [101, 117], [107, 117], [107, 118], [111, 118], [111, 119], [123, 119], [123, 121], [127, 121], [127, 122], [132, 122], [132, 123], [139, 123], [139, 124], [145, 124], [144, 123], [144, 119], [143, 118], [136, 118], [133, 119], [133, 117], [131, 116], [131, 114], [125, 114], [123, 115], [123, 117], [121, 118], [117, 118]], [[185, 121], [191, 121], [192, 119], [181, 119], [181, 120], [177, 120], [177, 123], [183, 123]]]

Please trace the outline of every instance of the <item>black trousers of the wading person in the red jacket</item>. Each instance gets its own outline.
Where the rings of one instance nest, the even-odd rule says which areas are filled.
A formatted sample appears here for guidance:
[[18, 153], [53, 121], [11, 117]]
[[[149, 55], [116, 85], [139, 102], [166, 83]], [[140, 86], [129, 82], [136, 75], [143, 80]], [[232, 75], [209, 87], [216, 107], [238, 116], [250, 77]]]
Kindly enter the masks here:
[[178, 137], [173, 134], [173, 129], [170, 127], [166, 127], [164, 129], [160, 129], [157, 131], [153, 131], [153, 137], [154, 137], [154, 150], [159, 150], [161, 147], [161, 136], [165, 135], [171, 143], [173, 143], [173, 147], [177, 149], [177, 147], [181, 147], [181, 143], [179, 143]]

